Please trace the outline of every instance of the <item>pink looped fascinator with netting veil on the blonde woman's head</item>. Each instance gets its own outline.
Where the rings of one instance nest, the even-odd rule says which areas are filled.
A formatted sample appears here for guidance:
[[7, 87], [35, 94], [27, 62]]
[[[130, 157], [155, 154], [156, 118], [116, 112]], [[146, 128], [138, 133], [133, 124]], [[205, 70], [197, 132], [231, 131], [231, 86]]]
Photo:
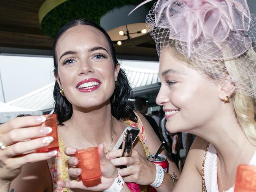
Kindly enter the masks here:
[[[146, 24], [158, 55], [174, 43], [180, 54], [217, 79], [228, 71], [222, 61], [245, 55], [252, 48], [254, 20], [246, 0], [158, 0], [149, 11]], [[254, 57], [250, 62], [241, 62], [243, 66], [237, 74], [228, 73], [241, 88], [239, 91], [256, 97]], [[245, 79], [250, 82], [243, 83]]]

